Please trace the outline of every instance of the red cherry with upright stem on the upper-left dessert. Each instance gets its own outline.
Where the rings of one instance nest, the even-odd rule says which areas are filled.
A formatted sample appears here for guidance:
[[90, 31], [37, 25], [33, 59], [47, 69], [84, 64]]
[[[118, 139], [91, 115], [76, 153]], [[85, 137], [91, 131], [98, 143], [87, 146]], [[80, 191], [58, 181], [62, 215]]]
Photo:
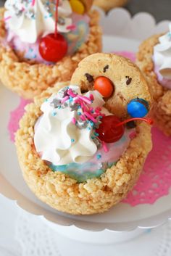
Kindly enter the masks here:
[[39, 44], [41, 57], [48, 62], [58, 62], [67, 54], [67, 41], [64, 36], [57, 32], [58, 6], [59, 0], [57, 0], [56, 5], [55, 31], [41, 38]]

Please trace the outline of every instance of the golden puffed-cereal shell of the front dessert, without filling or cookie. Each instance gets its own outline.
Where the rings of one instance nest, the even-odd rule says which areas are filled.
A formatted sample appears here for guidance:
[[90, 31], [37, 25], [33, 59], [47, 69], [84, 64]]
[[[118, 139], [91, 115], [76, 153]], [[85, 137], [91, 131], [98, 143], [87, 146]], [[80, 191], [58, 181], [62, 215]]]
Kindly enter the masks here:
[[26, 107], [16, 134], [17, 155], [26, 183], [46, 204], [72, 215], [90, 215], [105, 212], [128, 194], [137, 181], [143, 162], [151, 150], [151, 128], [146, 123], [137, 125], [137, 136], [116, 165], [101, 178], [77, 183], [63, 173], [54, 173], [38, 156], [34, 147], [34, 125], [41, 116], [41, 104], [66, 84], [57, 84], [36, 97]]

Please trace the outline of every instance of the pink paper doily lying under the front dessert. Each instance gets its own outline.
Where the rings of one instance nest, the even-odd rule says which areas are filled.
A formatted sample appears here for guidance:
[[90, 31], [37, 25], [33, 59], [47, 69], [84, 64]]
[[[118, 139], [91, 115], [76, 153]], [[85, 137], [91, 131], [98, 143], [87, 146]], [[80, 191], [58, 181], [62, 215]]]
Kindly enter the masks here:
[[[123, 55], [135, 61], [135, 54], [120, 51]], [[24, 113], [24, 107], [29, 101], [20, 100], [20, 105], [11, 112], [9, 120], [9, 134], [14, 141], [14, 133], [19, 126], [19, 120]], [[150, 152], [138, 183], [130, 191], [123, 202], [131, 206], [141, 204], [154, 204], [160, 197], [169, 194], [171, 187], [171, 137], [168, 138], [157, 128], [152, 128], [153, 149]]]

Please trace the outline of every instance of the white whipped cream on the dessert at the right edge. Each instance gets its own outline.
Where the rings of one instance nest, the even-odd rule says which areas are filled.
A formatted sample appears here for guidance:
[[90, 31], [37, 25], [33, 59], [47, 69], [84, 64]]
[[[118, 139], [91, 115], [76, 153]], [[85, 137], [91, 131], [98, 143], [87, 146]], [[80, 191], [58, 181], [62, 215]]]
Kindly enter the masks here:
[[154, 46], [154, 63], [159, 75], [171, 80], [171, 23], [170, 32], [159, 38], [159, 44]]

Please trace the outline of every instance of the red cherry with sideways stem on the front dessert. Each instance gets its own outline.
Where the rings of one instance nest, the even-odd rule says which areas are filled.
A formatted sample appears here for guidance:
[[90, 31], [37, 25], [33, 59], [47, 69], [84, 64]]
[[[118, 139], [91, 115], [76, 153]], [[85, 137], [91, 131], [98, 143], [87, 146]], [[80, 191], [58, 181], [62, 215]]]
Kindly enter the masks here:
[[115, 115], [107, 115], [101, 119], [101, 124], [99, 125], [99, 128], [96, 129], [96, 133], [99, 133], [98, 138], [106, 143], [119, 141], [125, 131], [124, 125], [135, 120], [144, 121], [149, 125], [153, 124], [153, 120], [150, 118], [135, 117], [121, 122]]

